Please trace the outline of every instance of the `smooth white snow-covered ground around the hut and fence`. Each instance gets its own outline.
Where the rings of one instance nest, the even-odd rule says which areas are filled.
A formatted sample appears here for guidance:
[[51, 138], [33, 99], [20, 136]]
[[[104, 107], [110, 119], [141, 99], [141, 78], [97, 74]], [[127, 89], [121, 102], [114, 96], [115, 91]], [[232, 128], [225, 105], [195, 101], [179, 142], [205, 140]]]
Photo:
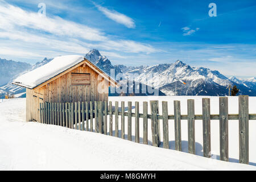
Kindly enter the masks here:
[[[111, 101], [181, 100], [181, 114], [187, 113], [187, 98], [195, 98], [196, 114], [201, 114], [201, 97], [110, 97]], [[256, 98], [249, 101], [256, 113]], [[229, 112], [237, 113], [237, 97], [229, 100]], [[126, 103], [127, 104], [127, 103]], [[121, 105], [121, 104], [120, 104]], [[0, 169], [12, 170], [246, 170], [256, 169], [256, 121], [250, 121], [250, 164], [222, 162], [201, 157], [202, 123], [196, 121], [196, 154], [187, 153], [187, 122], [181, 121], [184, 152], [138, 144], [87, 131], [25, 122], [26, 100], [18, 98], [0, 103]], [[141, 103], [142, 109], [142, 103]], [[218, 97], [211, 97], [212, 114], [218, 113]], [[161, 107], [160, 107], [161, 109]], [[142, 111], [142, 110], [141, 110]], [[161, 111], [161, 110], [160, 110]], [[148, 120], [150, 126], [150, 120]], [[134, 122], [133, 122], [134, 126]], [[142, 137], [142, 121], [140, 123]], [[218, 158], [218, 121], [212, 121], [212, 153]], [[114, 128], [114, 127], [113, 127]], [[149, 127], [150, 128], [150, 127]], [[119, 125], [119, 130], [121, 126]], [[174, 148], [174, 122], [170, 120], [170, 148]], [[134, 131], [134, 127], [133, 127]], [[149, 130], [150, 131], [150, 130]], [[134, 132], [133, 132], [134, 133]], [[148, 134], [151, 140], [151, 133]], [[142, 142], [142, 138], [141, 138]], [[229, 122], [230, 161], [238, 159], [238, 122]], [[150, 142], [151, 143], [151, 142]], [[254, 165], [254, 166], [253, 166]]]

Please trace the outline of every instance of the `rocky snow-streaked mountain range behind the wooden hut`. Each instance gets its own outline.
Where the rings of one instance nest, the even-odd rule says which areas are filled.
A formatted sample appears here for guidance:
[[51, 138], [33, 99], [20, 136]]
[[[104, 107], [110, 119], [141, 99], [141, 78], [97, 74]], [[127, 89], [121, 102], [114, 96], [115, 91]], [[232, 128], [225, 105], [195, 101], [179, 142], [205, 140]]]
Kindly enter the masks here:
[[[122, 78], [117, 80], [121, 85], [127, 83], [129, 76], [133, 76], [134, 83], [140, 83], [139, 90], [141, 90], [141, 86], [146, 85], [149, 86], [149, 88], [159, 89], [160, 95], [226, 96], [228, 95], [228, 89], [226, 89], [226, 87], [231, 84], [232, 86], [237, 85], [237, 88], [240, 89], [238, 94], [256, 96], [256, 78], [228, 78], [218, 71], [212, 71], [203, 67], [191, 67], [180, 60], [171, 64], [127, 67], [126, 65], [112, 65], [111, 61], [106, 56], [102, 56], [97, 49], [93, 49], [86, 53], [85, 58], [97, 65], [97, 67], [101, 68], [108, 75], [110, 75], [110, 69], [115, 69], [115, 74], [121, 74]], [[0, 75], [5, 76], [4, 79], [0, 80], [2, 84], [4, 83], [4, 85], [0, 87], [0, 93], [2, 90], [2, 93], [10, 92], [18, 94], [17, 96], [24, 97], [25, 90], [23, 88], [11, 85], [13, 78], [23, 74], [24, 72], [38, 68], [51, 60], [52, 59], [45, 58], [43, 61], [39, 61], [35, 65], [30, 65], [16, 61], [10, 61], [11, 64], [6, 64], [6, 60], [2, 61], [0, 59], [0, 65], [3, 65]], [[5, 70], [7, 70], [6, 68], [10, 69], [12, 67], [14, 67], [13, 69], [17, 67], [20, 69], [9, 76]], [[185, 84], [183, 84], [183, 82], [185, 82]], [[115, 93], [111, 95], [117, 96], [118, 94]], [[139, 93], [136, 95], [147, 94]]]

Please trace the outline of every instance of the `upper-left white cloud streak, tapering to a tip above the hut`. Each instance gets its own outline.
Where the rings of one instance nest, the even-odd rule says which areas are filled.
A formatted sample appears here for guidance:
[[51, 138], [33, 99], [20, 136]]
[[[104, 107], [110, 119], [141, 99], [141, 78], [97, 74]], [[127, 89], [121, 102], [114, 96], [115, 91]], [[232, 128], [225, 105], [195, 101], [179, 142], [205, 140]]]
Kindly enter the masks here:
[[104, 34], [96, 28], [64, 20], [59, 16], [39, 16], [38, 13], [24, 11], [8, 4], [0, 6], [0, 27], [5, 30], [17, 27], [32, 28], [57, 36], [73, 36], [85, 40], [106, 40]]

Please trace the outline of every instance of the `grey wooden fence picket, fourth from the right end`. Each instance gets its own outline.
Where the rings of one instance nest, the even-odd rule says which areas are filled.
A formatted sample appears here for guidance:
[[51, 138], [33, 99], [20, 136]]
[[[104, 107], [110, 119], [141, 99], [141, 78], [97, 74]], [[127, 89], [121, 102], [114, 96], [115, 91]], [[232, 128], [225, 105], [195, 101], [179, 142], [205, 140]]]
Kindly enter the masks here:
[[196, 154], [195, 146], [195, 100], [187, 100], [188, 104], [188, 153]]

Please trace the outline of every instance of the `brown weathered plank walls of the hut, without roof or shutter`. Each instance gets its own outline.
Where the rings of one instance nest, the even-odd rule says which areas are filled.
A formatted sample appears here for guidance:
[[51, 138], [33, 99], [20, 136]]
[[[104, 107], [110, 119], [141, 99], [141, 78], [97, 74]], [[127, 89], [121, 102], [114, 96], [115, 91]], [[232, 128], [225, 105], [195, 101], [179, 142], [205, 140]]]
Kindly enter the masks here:
[[[72, 85], [72, 73], [89, 73], [90, 85]], [[102, 78], [92, 68], [81, 65], [65, 73], [46, 85], [27, 89], [27, 121], [39, 121], [40, 102], [85, 102], [108, 101], [109, 81]], [[93, 102], [94, 103], [94, 102]]]

